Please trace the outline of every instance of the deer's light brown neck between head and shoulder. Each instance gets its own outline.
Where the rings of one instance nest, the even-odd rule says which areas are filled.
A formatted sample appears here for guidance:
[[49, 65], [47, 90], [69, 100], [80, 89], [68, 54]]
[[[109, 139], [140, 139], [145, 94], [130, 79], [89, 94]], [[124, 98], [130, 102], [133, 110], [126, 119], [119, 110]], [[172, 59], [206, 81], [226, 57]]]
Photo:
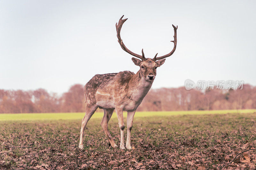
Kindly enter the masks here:
[[147, 81], [138, 71], [128, 83], [128, 92], [130, 93], [128, 96], [131, 96], [131, 100], [141, 102], [151, 88], [152, 83], [153, 81]]

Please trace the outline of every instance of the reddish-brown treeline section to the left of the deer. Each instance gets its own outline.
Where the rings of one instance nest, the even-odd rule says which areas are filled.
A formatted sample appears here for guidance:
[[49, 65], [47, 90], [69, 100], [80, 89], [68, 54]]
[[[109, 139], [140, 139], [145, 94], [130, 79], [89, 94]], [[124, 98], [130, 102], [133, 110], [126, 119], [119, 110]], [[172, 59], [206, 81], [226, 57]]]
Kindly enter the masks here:
[[58, 96], [45, 89], [0, 90], [0, 113], [84, 112], [84, 86], [73, 85]]

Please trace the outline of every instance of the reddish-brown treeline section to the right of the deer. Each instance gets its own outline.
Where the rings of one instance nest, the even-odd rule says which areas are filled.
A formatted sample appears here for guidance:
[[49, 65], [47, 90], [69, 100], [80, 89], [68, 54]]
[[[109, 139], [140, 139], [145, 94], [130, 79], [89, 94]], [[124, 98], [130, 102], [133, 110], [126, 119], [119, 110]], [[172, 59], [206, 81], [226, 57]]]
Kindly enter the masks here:
[[244, 85], [238, 90], [179, 88], [153, 89], [148, 92], [138, 111], [255, 109], [256, 87]]

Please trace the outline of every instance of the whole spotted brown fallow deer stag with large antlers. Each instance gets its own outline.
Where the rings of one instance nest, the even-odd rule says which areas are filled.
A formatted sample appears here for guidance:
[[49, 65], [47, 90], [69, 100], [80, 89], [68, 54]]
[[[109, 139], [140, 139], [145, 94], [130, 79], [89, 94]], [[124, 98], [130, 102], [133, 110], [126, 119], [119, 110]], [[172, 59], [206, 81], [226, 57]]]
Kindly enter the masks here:
[[108, 121], [111, 118], [114, 109], [116, 109], [118, 124], [121, 132], [121, 149], [125, 149], [123, 111], [127, 111], [126, 148], [132, 148], [130, 140], [135, 111], [151, 88], [151, 85], [156, 77], [156, 68], [160, 67], [165, 61], [164, 58], [171, 56], [176, 49], [178, 26], [175, 27], [172, 25], [174, 28], [174, 41], [172, 41], [174, 43], [174, 47], [169, 54], [163, 55], [161, 57], [156, 57], [156, 54], [155, 57], [151, 59], [145, 57], [143, 49], [142, 55], [133, 53], [125, 47], [124, 42], [120, 36], [122, 25], [127, 20], [127, 18], [122, 19], [123, 17], [124, 15], [119, 19], [118, 24], [116, 23], [118, 42], [124, 51], [139, 58], [137, 59], [132, 57], [132, 61], [135, 65], [140, 66], [140, 70], [136, 74], [131, 71], [97, 74], [88, 83], [86, 83], [84, 86], [84, 96], [87, 105], [80, 131], [80, 149], [84, 148], [83, 138], [85, 126], [98, 107], [104, 110], [101, 127], [103, 128], [105, 135], [107, 136], [112, 147], [117, 147], [117, 145], [109, 133]]

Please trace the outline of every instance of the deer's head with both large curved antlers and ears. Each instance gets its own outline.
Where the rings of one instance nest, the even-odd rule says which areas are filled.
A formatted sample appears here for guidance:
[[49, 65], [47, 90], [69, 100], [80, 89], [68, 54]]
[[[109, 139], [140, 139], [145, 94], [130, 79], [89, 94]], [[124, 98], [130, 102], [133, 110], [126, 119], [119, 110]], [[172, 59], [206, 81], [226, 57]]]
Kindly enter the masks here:
[[153, 81], [156, 77], [156, 68], [160, 67], [165, 61], [164, 58], [171, 56], [174, 53], [175, 49], [176, 49], [178, 26], [175, 27], [174, 25], [172, 25], [172, 27], [174, 28], [174, 36], [173, 36], [174, 41], [171, 41], [171, 42], [174, 43], [174, 47], [173, 47], [172, 51], [169, 54], [163, 55], [161, 57], [156, 57], [157, 54], [158, 54], [157, 53], [155, 55], [155, 57], [151, 59], [151, 58], [146, 58], [145, 57], [143, 49], [142, 49], [142, 55], [138, 55], [138, 54], [133, 53], [132, 51], [130, 51], [128, 48], [125, 47], [124, 42], [123, 42], [123, 40], [121, 39], [121, 36], [120, 36], [120, 31], [121, 31], [121, 28], [122, 28], [124, 22], [128, 18], [122, 19], [123, 17], [124, 17], [124, 15], [119, 19], [118, 24], [116, 23], [116, 32], [117, 32], [118, 42], [119, 42], [121, 48], [124, 51], [126, 51], [127, 53], [129, 53], [129, 54], [131, 54], [131, 55], [133, 55], [137, 58], [139, 58], [139, 59], [137, 59], [137, 58], [132, 57], [132, 61], [135, 65], [140, 66], [140, 71], [139, 71], [140, 76], [145, 78], [147, 81]]

